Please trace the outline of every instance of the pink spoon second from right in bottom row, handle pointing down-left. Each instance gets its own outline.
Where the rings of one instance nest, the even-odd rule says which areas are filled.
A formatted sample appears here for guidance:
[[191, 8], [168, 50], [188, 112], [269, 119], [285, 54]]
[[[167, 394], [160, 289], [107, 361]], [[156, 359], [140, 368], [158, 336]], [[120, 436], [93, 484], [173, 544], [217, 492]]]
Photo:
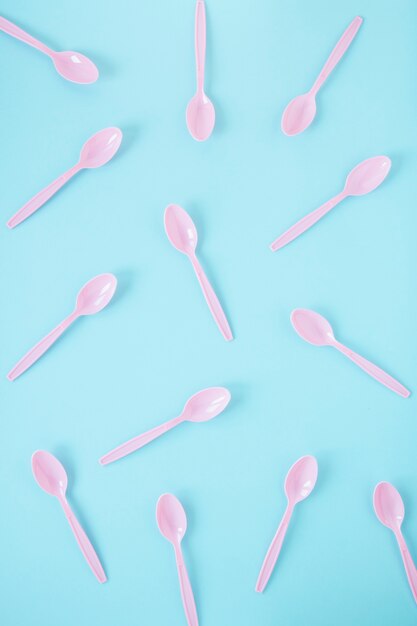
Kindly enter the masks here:
[[298, 502], [307, 498], [313, 491], [317, 481], [317, 474], [318, 467], [314, 456], [302, 456], [301, 459], [298, 459], [298, 461], [290, 467], [284, 486], [285, 495], [288, 500], [287, 508], [278, 526], [275, 537], [266, 553], [256, 583], [256, 591], [262, 592], [265, 589], [281, 551], [294, 507]]

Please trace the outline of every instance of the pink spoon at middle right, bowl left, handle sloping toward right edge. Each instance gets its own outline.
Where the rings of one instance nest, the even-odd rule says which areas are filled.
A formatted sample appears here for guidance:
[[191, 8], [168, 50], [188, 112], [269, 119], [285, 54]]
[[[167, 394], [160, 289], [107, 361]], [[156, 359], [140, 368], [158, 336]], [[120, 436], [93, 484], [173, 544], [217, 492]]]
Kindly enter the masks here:
[[392, 376], [384, 372], [384, 370], [381, 370], [370, 361], [364, 359], [363, 356], [356, 354], [353, 350], [350, 350], [336, 341], [329, 322], [315, 311], [310, 311], [309, 309], [295, 309], [295, 311], [291, 313], [291, 323], [300, 337], [308, 341], [308, 343], [313, 344], [313, 346], [331, 346], [332, 348], [336, 348], [336, 350], [339, 350], [339, 352], [347, 356], [348, 359], [363, 369], [369, 376], [375, 378], [375, 380], [385, 385], [385, 387], [388, 387], [388, 389], [391, 389], [391, 391], [398, 393], [398, 395], [403, 398], [408, 398], [410, 395], [408, 389], [399, 383], [398, 380], [395, 380], [395, 378], [392, 378]]

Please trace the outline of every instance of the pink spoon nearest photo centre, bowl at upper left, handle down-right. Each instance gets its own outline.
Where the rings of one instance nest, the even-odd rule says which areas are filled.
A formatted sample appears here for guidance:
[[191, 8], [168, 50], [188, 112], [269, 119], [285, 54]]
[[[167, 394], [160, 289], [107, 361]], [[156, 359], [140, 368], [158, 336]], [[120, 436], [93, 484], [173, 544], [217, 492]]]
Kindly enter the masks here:
[[211, 314], [223, 337], [226, 341], [231, 341], [233, 335], [226, 315], [195, 255], [197, 247], [196, 227], [188, 213], [177, 204], [170, 204], [165, 209], [165, 231], [174, 248], [186, 254], [190, 259]]

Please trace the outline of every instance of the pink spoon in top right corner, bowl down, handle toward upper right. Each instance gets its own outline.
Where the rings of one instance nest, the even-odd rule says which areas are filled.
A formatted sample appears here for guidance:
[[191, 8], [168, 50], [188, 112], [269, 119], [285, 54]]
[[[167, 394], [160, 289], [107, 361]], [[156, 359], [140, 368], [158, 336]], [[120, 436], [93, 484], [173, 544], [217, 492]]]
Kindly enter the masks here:
[[317, 92], [349, 48], [362, 22], [361, 17], [355, 17], [337, 42], [310, 91], [297, 96], [287, 105], [281, 120], [283, 133], [286, 135], [298, 135], [298, 133], [302, 133], [303, 130], [310, 126], [316, 115]]

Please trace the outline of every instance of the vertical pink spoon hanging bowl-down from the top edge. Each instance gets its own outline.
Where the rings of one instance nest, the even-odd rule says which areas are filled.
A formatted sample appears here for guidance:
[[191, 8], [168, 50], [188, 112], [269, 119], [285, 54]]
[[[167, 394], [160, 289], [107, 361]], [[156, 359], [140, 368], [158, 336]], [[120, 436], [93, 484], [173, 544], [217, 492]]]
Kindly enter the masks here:
[[213, 103], [204, 93], [206, 9], [203, 0], [197, 0], [195, 11], [195, 57], [197, 66], [197, 91], [188, 103], [186, 120], [190, 135], [197, 141], [205, 141], [213, 132], [216, 113]]

